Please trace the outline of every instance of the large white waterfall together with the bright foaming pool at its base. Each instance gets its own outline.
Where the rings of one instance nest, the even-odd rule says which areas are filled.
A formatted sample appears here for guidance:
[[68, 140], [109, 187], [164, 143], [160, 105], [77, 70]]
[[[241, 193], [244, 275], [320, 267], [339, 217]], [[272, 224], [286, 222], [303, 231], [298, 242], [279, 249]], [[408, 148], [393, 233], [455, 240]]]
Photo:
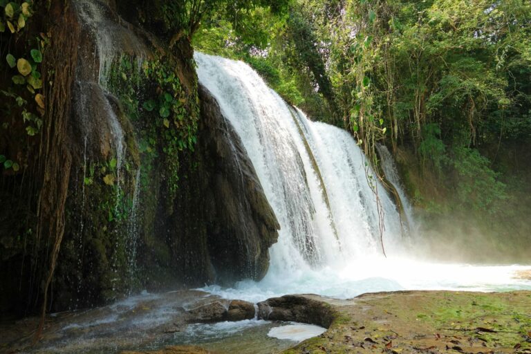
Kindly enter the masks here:
[[[281, 225], [263, 280], [203, 290], [261, 301], [305, 292], [348, 298], [384, 290], [531, 288], [530, 281], [514, 279], [514, 272], [529, 268], [521, 265], [416, 261], [424, 255], [402, 239], [398, 209], [375, 182], [350, 134], [292, 111], [243, 62], [201, 53], [195, 59], [199, 81], [243, 141]], [[404, 198], [398, 181], [395, 187]], [[380, 213], [387, 258], [380, 243]]]

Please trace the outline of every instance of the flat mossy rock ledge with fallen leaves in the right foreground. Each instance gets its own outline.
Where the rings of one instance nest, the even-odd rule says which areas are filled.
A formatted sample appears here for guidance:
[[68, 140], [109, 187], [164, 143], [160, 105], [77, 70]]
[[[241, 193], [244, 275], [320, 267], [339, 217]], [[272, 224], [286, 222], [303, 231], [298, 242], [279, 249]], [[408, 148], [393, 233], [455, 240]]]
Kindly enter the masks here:
[[[285, 354], [531, 353], [530, 291], [378, 292], [349, 300], [286, 295], [257, 305], [261, 319], [328, 328]], [[177, 351], [182, 348], [137, 353], [185, 353]]]

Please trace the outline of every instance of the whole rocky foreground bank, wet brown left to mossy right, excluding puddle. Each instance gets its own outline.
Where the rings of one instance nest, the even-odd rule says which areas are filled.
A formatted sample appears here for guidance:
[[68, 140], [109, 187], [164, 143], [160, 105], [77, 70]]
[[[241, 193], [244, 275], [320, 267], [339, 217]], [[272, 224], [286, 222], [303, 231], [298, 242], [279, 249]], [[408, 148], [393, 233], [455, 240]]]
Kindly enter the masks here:
[[[215, 346], [171, 346], [171, 338], [192, 323], [258, 317], [328, 328], [318, 337], [293, 343], [284, 351], [289, 354], [531, 353], [530, 314], [530, 291], [378, 292], [348, 300], [286, 295], [257, 306], [205, 292], [178, 291], [50, 315], [36, 346], [29, 346], [35, 319], [3, 325], [0, 352], [217, 353]], [[246, 345], [243, 339], [238, 341]], [[157, 343], [162, 349], [153, 351]], [[270, 353], [267, 350], [271, 349], [263, 353]]]

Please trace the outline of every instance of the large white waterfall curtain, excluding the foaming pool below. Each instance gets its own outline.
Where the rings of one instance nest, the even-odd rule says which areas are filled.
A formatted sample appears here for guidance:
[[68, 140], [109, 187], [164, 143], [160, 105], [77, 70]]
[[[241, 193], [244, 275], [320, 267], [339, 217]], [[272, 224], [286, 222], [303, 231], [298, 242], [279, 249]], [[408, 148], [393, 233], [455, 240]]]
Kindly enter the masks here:
[[281, 225], [267, 277], [381, 257], [380, 212], [384, 245], [397, 246], [398, 209], [347, 131], [308, 120], [243, 62], [195, 59], [199, 81], [239, 134]]

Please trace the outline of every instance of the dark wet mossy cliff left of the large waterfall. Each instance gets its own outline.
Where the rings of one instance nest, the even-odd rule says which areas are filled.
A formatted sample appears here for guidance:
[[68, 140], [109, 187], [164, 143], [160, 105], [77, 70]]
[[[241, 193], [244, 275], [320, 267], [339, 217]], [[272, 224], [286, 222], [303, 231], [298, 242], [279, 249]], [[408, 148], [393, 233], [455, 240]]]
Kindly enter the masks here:
[[[155, 28], [133, 21], [136, 12], [157, 5], [133, 2], [131, 14], [122, 13], [131, 6], [122, 0], [77, 0], [53, 6], [57, 16], [51, 18], [72, 37], [54, 38], [60, 56], [71, 59], [71, 69], [64, 74], [69, 89], [60, 97], [68, 102], [61, 149], [69, 156], [65, 168], [69, 178], [62, 207], [64, 236], [50, 290], [53, 311], [104, 305], [143, 289], [154, 292], [261, 279], [268, 270], [268, 248], [277, 241], [279, 224], [254, 168], [209, 93], [201, 91], [195, 151], [171, 150], [173, 155], [165, 155], [169, 149], [161, 124], [142, 108], [149, 98], [157, 98], [153, 92], [159, 82], [132, 67], [140, 68], [142, 61], [171, 67], [184, 88], [183, 115], [196, 119], [193, 50], [187, 39], [169, 48], [167, 38]], [[132, 75], [121, 71], [120, 64], [126, 61]], [[117, 83], [129, 83], [131, 100], [124, 98]], [[129, 93], [129, 88], [134, 92]], [[195, 127], [188, 128], [195, 133]], [[166, 162], [171, 158], [180, 165], [176, 195], [167, 187]], [[0, 199], [6, 192], [11, 190], [0, 190]], [[17, 196], [4, 203], [12, 210], [6, 219], [18, 222], [32, 215], [21, 203], [28, 198]], [[9, 228], [17, 232], [15, 227], [19, 225]], [[15, 242], [17, 235], [0, 237], [0, 313], [14, 308], [32, 313], [40, 301], [28, 297], [39, 297], [40, 285], [37, 280], [32, 283], [35, 274], [28, 270], [35, 268], [35, 259], [26, 254], [25, 243]], [[227, 318], [252, 318], [251, 307], [225, 312]]]

